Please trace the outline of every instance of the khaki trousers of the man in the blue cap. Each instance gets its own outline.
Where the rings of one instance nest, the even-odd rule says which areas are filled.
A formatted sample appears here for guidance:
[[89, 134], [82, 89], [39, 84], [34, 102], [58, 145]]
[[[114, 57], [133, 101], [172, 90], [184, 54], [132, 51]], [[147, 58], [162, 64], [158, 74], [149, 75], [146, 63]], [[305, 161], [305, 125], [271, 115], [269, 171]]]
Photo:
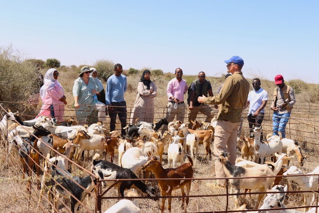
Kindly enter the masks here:
[[[214, 157], [216, 178], [226, 178], [223, 165], [216, 159], [222, 152], [230, 152], [229, 161], [235, 164], [237, 153], [237, 131], [240, 122], [218, 120], [215, 128]], [[227, 146], [227, 148], [226, 148]], [[217, 180], [217, 184], [224, 185], [226, 180]]]

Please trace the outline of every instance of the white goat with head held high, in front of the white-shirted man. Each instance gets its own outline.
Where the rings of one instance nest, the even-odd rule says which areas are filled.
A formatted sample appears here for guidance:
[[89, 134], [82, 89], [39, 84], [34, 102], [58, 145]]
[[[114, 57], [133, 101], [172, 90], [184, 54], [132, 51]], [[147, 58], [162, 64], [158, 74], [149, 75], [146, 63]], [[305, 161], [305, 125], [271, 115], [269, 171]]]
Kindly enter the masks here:
[[264, 157], [274, 157], [276, 158], [275, 153], [281, 154], [282, 152], [282, 142], [279, 137], [271, 138], [271, 141], [260, 140], [261, 129], [255, 127], [252, 133], [255, 135], [255, 162], [257, 163], [258, 157], [261, 158], [261, 164], [264, 163]]

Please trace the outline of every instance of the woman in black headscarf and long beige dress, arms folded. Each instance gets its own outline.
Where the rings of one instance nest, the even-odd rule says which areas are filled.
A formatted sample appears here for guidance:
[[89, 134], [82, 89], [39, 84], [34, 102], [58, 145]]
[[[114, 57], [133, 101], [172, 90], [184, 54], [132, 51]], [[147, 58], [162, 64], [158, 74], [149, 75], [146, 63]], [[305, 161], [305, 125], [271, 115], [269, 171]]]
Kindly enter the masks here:
[[137, 97], [130, 117], [131, 124], [135, 122], [136, 118], [139, 118], [138, 121], [153, 123], [154, 97], [157, 95], [157, 88], [150, 77], [151, 72], [144, 70], [141, 80], [138, 82]]

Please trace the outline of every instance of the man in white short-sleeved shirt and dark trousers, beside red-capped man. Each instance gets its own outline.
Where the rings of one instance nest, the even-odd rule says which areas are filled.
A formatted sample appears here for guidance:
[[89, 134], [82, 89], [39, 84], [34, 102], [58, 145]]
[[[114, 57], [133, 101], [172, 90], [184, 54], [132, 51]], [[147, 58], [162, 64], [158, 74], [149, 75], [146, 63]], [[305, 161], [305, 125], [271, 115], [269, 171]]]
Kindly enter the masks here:
[[[252, 85], [254, 89], [249, 92], [247, 104], [243, 108], [244, 110], [249, 106], [247, 117], [249, 122], [249, 129], [252, 129], [253, 126], [261, 127], [263, 116], [265, 114], [264, 108], [268, 101], [268, 93], [266, 90], [260, 87], [260, 79], [255, 78]], [[261, 135], [261, 138], [263, 139], [263, 133]]]

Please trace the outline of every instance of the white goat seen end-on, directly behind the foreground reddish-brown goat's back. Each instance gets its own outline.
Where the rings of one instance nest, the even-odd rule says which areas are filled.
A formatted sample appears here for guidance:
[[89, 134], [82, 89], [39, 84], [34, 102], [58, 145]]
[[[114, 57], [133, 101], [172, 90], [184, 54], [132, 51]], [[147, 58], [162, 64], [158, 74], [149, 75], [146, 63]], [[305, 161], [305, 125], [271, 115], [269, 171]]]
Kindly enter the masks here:
[[168, 158], [168, 168], [171, 168], [171, 163], [173, 163], [173, 168], [177, 167], [179, 162], [181, 165], [184, 162], [184, 150], [182, 144], [179, 143], [180, 140], [185, 139], [176, 135], [172, 137], [172, 143], [168, 145], [167, 158]]

